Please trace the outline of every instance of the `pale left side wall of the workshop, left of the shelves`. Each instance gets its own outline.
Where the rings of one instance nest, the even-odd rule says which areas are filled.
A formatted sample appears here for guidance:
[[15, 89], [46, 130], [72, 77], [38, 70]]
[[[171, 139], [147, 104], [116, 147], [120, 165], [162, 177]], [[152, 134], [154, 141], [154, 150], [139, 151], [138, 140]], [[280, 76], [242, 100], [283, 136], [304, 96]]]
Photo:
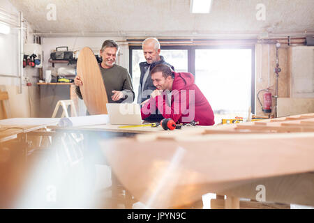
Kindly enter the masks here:
[[[0, 1], [0, 8], [8, 13], [17, 14], [17, 9], [8, 1]], [[27, 24], [24, 30], [24, 43], [33, 43], [31, 26]], [[19, 29], [11, 28], [8, 35], [0, 34], [0, 74], [19, 76], [20, 34]], [[36, 117], [38, 107], [38, 69], [24, 68], [24, 77], [29, 77], [32, 86], [26, 86], [22, 79], [20, 94], [20, 79], [15, 77], [0, 77], [1, 91], [8, 91], [9, 100], [5, 102], [8, 118]]]

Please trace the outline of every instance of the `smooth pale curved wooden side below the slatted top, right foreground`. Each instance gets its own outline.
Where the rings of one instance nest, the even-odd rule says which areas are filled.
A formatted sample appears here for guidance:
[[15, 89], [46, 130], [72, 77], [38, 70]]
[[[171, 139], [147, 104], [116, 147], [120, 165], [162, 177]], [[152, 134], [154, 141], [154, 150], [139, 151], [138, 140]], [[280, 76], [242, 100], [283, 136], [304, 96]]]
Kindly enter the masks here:
[[[134, 197], [154, 208], [184, 206], [208, 192], [241, 197], [241, 194], [228, 194], [228, 190], [241, 188], [259, 178], [314, 171], [311, 159], [314, 157], [314, 132], [191, 137], [177, 133], [172, 139], [103, 142], [105, 157], [119, 181]], [[297, 183], [300, 184], [296, 186]], [[276, 192], [289, 193], [292, 190], [290, 195], [303, 193], [306, 197], [282, 194], [273, 198], [314, 204], [313, 183], [313, 178], [307, 184], [299, 178], [288, 178], [273, 183], [267, 192], [273, 187], [277, 188]], [[298, 188], [297, 192], [293, 187]], [[255, 199], [255, 187], [251, 188], [254, 188], [251, 194]]]

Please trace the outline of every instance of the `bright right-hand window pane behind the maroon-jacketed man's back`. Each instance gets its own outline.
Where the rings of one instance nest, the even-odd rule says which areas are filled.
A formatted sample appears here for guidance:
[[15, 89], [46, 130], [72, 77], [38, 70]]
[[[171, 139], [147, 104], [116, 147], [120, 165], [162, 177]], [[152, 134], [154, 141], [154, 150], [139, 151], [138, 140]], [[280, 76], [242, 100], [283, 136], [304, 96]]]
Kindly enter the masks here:
[[195, 84], [209, 101], [215, 123], [248, 116], [251, 106], [251, 49], [196, 49]]

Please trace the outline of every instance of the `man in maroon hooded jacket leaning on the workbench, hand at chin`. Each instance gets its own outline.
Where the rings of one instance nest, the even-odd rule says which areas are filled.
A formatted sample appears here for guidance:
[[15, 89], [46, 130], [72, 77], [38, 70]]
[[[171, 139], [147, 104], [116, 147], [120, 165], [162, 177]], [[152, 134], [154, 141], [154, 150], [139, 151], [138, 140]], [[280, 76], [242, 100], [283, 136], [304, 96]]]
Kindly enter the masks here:
[[198, 121], [200, 125], [214, 125], [214, 113], [202, 91], [194, 84], [194, 76], [188, 72], [172, 72], [165, 64], [151, 70], [156, 90], [142, 104], [142, 119], [158, 112], [176, 123]]

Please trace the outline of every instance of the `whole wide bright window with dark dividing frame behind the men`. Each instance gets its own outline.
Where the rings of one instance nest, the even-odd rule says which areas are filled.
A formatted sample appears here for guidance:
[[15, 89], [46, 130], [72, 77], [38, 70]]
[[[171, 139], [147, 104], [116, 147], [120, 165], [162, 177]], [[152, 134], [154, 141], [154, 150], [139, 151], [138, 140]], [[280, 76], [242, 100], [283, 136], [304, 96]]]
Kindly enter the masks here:
[[[160, 55], [176, 72], [191, 72], [195, 84], [204, 93], [215, 114], [221, 118], [246, 118], [248, 108], [255, 109], [255, 48], [166, 46]], [[142, 47], [130, 47], [130, 75], [135, 97], [140, 83], [139, 63], [145, 61]]]

